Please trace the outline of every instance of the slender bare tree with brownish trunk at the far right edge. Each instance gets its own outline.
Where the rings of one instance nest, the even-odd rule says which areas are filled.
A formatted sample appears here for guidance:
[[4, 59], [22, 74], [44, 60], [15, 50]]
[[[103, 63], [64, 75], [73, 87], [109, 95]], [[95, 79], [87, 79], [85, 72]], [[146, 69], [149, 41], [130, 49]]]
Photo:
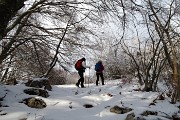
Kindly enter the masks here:
[[[172, 103], [175, 103], [177, 98], [180, 98], [179, 93], [179, 77], [178, 77], [178, 67], [177, 67], [177, 52], [176, 52], [176, 46], [174, 41], [174, 38], [176, 35], [173, 34], [173, 29], [175, 26], [172, 24], [172, 21], [174, 21], [174, 18], [176, 18], [176, 10], [174, 8], [175, 1], [169, 2], [168, 8], [161, 8], [162, 10], [157, 10], [154, 6], [154, 4], [148, 0], [148, 4], [150, 5], [150, 10], [152, 14], [150, 15], [151, 21], [155, 25], [155, 30], [157, 31], [160, 41], [163, 43], [164, 52], [166, 55], [166, 58], [168, 60], [168, 63], [173, 71], [173, 87], [174, 87], [174, 93], [172, 96]], [[161, 11], [161, 14], [165, 17], [159, 15]]]

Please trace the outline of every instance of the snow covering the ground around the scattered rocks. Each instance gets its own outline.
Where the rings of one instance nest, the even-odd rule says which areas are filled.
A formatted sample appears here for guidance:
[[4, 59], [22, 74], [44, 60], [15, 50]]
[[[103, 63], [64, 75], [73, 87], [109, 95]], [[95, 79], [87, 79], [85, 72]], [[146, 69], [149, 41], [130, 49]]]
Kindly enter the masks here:
[[[139, 88], [137, 83], [122, 84], [120, 80], [106, 81], [104, 86], [90, 84], [86, 88], [55, 85], [52, 91], [48, 91], [48, 98], [25, 94], [23, 90], [26, 88], [22, 83], [0, 85], [0, 98], [6, 95], [1, 101], [0, 120], [125, 120], [129, 113], [134, 112], [137, 117], [146, 110], [158, 112], [158, 116], [144, 116], [146, 120], [168, 120], [163, 116], [172, 116], [179, 111], [179, 103], [171, 104], [167, 96], [165, 100], [157, 100], [155, 105], [150, 105], [159, 95], [158, 92], [135, 91]], [[33, 96], [43, 99], [47, 107], [35, 109], [20, 103], [24, 98]], [[84, 104], [93, 107], [85, 108]], [[110, 112], [115, 105], [133, 110], [125, 114]]]

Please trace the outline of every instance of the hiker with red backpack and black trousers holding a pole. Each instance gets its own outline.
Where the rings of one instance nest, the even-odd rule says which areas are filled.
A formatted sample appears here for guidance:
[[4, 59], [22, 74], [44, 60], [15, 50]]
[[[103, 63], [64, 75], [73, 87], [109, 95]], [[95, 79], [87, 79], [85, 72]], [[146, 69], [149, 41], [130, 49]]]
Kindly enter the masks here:
[[90, 68], [89, 66], [86, 66], [86, 59], [83, 57], [80, 60], [78, 60], [75, 64], [75, 68], [78, 71], [80, 79], [76, 83], [76, 86], [79, 87], [79, 84], [81, 84], [81, 88], [84, 87], [84, 72], [86, 68]]

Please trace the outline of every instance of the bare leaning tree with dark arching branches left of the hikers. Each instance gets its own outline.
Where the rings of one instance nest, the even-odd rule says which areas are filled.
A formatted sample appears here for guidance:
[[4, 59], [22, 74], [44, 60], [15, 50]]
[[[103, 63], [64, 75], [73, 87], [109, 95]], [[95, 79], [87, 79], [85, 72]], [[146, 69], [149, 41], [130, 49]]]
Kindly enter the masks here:
[[[88, 47], [90, 43], [87, 35], [92, 35], [93, 32], [87, 29], [87, 23], [97, 20], [97, 11], [94, 9], [90, 1], [28, 1], [23, 9], [18, 9], [17, 14], [13, 13], [12, 17], [6, 20], [8, 24], [3, 28], [0, 53], [2, 71], [7, 67], [11, 56], [15, 60], [11, 63], [12, 67], [21, 60], [17, 60], [20, 58], [17, 57], [20, 55], [19, 50], [23, 49], [24, 53], [28, 54], [28, 49], [21, 46], [30, 47], [30, 50], [33, 50], [41, 75], [47, 77], [57, 62], [67, 70], [67, 63], [70, 64], [69, 60], [73, 58], [73, 53], [82, 47]], [[46, 59], [52, 60], [48, 62], [49, 66], [42, 62], [38, 50], [42, 44], [43, 48], [55, 51], [47, 55], [47, 51], [41, 50], [47, 55]], [[44, 69], [45, 66], [46, 69]]]

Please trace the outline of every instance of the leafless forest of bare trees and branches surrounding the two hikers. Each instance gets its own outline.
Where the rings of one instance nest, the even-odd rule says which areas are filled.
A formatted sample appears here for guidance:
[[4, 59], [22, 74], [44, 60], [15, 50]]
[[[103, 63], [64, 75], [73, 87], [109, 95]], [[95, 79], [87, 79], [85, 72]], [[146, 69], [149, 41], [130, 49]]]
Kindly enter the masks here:
[[165, 80], [171, 102], [180, 100], [177, 0], [0, 0], [0, 14], [3, 84], [66, 84], [86, 57], [91, 66], [104, 62], [106, 79], [137, 77], [143, 91]]

